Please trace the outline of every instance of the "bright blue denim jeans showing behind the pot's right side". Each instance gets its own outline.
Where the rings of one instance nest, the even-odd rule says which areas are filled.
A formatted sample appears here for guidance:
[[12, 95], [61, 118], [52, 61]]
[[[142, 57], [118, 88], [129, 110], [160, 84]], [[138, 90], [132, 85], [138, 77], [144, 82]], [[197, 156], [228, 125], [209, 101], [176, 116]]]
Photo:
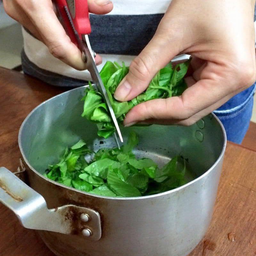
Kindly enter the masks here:
[[241, 144], [244, 139], [252, 117], [255, 84], [238, 93], [213, 112], [225, 127], [229, 141]]

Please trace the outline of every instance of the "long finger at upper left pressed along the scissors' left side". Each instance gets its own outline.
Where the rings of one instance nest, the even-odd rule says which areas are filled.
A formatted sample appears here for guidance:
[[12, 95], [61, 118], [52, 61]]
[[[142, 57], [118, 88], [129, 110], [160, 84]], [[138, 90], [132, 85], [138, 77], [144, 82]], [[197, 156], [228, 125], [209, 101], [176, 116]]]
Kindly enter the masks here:
[[[21, 1], [21, 7], [28, 4], [26, 2]], [[23, 7], [25, 9], [25, 6]], [[71, 42], [60, 24], [53, 11], [51, 1], [44, 1], [43, 8], [42, 4], [40, 5], [36, 1], [30, 2], [30, 5], [26, 6], [26, 12], [53, 56], [78, 70], [86, 69], [86, 63], [82, 60], [80, 50]]]

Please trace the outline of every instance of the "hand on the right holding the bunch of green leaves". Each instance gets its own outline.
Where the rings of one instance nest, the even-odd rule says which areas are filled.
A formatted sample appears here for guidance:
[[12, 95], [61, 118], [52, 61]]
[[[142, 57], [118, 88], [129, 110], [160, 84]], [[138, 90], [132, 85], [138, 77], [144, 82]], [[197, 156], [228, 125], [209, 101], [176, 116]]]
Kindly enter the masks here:
[[120, 101], [133, 99], [180, 53], [193, 56], [188, 89], [179, 97], [135, 106], [124, 125], [194, 124], [252, 85], [256, 79], [254, 4], [253, 0], [173, 0], [114, 96]]

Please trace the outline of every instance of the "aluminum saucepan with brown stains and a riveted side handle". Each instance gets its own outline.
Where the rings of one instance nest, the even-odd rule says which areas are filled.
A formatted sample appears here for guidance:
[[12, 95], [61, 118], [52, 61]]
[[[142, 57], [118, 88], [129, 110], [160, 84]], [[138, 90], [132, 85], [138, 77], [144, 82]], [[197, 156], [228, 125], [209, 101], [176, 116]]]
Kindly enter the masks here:
[[[98, 150], [95, 124], [81, 117], [84, 87], [64, 92], [35, 108], [19, 132], [22, 154], [17, 178], [0, 169], [0, 201], [26, 228], [61, 256], [186, 256], [210, 224], [226, 148], [216, 116], [189, 127], [152, 125], [123, 128], [124, 140], [135, 130], [135, 154], [159, 166], [181, 154], [195, 178], [180, 188], [144, 197], [91, 195], [48, 180], [43, 173], [67, 146], [79, 139]], [[104, 147], [116, 147], [104, 140]]]

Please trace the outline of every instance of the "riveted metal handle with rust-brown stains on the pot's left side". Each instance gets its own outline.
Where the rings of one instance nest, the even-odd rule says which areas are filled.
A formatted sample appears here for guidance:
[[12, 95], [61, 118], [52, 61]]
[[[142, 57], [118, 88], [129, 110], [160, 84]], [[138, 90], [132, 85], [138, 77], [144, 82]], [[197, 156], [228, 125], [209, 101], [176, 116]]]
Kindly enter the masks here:
[[48, 209], [43, 196], [4, 167], [0, 167], [0, 202], [25, 228], [76, 234], [94, 241], [101, 237], [98, 212], [71, 204]]

